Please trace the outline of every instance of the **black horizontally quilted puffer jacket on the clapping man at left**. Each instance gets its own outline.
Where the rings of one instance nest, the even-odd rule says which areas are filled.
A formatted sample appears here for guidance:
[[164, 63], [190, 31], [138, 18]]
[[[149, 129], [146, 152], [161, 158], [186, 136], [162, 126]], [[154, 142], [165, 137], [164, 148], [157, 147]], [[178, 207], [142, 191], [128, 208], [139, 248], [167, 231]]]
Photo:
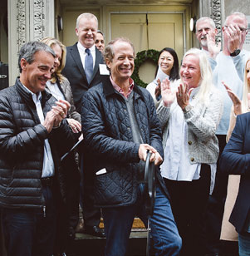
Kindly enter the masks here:
[[[44, 116], [56, 99], [42, 92]], [[63, 193], [60, 156], [74, 144], [66, 121], [49, 134], [41, 125], [32, 95], [17, 79], [15, 86], [0, 91], [0, 206], [39, 208], [42, 197], [44, 140], [49, 139], [55, 163], [56, 184]], [[62, 140], [63, 138], [63, 140]]]

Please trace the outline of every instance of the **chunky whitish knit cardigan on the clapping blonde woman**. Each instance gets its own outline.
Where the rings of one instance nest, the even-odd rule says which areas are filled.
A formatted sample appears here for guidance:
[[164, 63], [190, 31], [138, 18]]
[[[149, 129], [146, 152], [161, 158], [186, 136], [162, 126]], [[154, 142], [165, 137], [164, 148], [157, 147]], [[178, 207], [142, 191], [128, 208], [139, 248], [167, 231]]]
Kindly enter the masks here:
[[[175, 100], [176, 101], [176, 100]], [[173, 104], [179, 107], [178, 104]], [[160, 102], [156, 112], [163, 130], [163, 145], [169, 132], [169, 116], [173, 106], [165, 107]], [[213, 89], [209, 96], [208, 106], [196, 101], [184, 120], [188, 125], [189, 160], [191, 164], [213, 164], [218, 160], [218, 139], [215, 135], [223, 113], [223, 101], [218, 90]]]

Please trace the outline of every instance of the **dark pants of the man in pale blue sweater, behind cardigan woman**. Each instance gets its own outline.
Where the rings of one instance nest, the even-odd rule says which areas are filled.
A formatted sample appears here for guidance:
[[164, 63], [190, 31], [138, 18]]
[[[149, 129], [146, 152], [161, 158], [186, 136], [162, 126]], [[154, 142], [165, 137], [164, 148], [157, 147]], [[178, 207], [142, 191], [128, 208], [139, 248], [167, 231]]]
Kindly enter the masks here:
[[208, 209], [204, 224], [207, 254], [219, 253], [221, 251], [219, 238], [228, 189], [228, 175], [222, 175], [218, 165], [220, 155], [223, 153], [226, 145], [226, 135], [217, 135], [217, 138], [219, 147], [217, 172], [213, 194], [208, 199]]

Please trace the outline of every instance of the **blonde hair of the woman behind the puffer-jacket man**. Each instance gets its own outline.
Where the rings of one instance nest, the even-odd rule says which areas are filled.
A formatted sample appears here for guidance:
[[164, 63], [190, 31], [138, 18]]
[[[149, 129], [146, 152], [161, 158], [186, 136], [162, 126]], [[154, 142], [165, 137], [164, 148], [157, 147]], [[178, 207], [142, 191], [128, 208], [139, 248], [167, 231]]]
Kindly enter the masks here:
[[41, 42], [46, 43], [49, 47], [52, 47], [53, 45], [58, 45], [61, 48], [60, 65], [58, 66], [57, 70], [51, 75], [51, 82], [56, 83], [57, 78], [60, 82], [64, 81], [66, 77], [61, 74], [61, 71], [63, 70], [66, 63], [66, 46], [53, 37], [44, 37], [42, 38]]

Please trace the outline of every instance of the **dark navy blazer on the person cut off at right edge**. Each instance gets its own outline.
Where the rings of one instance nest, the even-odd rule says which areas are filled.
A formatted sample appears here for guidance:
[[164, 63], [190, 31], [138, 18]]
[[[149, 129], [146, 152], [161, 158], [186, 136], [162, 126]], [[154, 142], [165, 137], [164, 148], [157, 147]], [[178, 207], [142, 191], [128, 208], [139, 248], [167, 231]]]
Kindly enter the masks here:
[[241, 175], [238, 197], [229, 219], [241, 233], [250, 209], [250, 113], [237, 117], [233, 134], [221, 155], [220, 170]]

